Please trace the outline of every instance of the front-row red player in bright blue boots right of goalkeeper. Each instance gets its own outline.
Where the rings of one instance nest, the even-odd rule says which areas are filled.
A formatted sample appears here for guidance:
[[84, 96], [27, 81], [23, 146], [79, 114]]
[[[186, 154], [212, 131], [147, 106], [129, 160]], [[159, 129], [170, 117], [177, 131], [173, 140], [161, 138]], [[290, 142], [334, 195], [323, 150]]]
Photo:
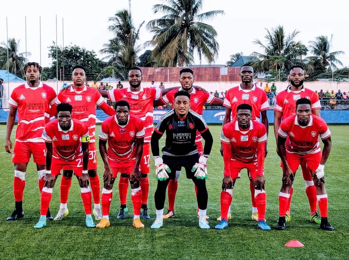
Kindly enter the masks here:
[[260, 122], [251, 120], [252, 106], [243, 103], [236, 108], [237, 120], [223, 126], [221, 142], [223, 146], [224, 178], [221, 192], [221, 221], [216, 229], [228, 227], [228, 210], [232, 201], [235, 181], [240, 171], [247, 169], [254, 187], [254, 201], [258, 209], [258, 225], [262, 230], [270, 230], [265, 222], [266, 193], [264, 177], [265, 146], [267, 130]]

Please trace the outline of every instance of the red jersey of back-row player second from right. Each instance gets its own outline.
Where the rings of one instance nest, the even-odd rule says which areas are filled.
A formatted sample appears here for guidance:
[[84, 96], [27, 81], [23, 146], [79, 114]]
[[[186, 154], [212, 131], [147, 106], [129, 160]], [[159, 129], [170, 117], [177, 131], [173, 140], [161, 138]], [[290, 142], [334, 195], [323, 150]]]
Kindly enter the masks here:
[[224, 98], [223, 105], [231, 108], [232, 118], [236, 117], [236, 108], [242, 103], [247, 103], [252, 106], [251, 119], [259, 122], [260, 112], [269, 109], [267, 94], [265, 91], [256, 88], [244, 90], [241, 86], [234, 87], [228, 90]]

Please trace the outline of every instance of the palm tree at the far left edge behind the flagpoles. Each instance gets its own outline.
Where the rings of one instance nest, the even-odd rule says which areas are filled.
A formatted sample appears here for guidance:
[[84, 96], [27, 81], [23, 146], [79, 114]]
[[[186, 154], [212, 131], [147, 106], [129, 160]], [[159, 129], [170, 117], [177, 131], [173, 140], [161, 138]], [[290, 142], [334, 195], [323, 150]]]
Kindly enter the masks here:
[[[9, 72], [13, 74], [18, 74], [26, 62], [25, 54], [31, 55], [30, 52], [18, 53], [20, 40], [15, 38], [8, 39], [7, 44], [3, 42], [0, 47], [0, 68], [7, 70], [7, 62], [9, 66]], [[7, 46], [8, 46], [8, 60], [7, 60]]]

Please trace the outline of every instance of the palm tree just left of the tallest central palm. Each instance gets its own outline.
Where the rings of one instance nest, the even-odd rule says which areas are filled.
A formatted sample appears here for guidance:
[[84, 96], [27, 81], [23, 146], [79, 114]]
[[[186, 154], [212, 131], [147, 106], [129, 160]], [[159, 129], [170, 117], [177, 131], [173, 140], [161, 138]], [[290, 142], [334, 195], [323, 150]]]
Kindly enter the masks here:
[[108, 60], [110, 65], [127, 70], [138, 61], [138, 53], [141, 50], [138, 44], [139, 30], [144, 21], [136, 29], [131, 13], [122, 9], [110, 17], [109, 22], [113, 22], [108, 26], [108, 30], [113, 32], [114, 38], [104, 44], [104, 48], [99, 52], [107, 55], [103, 59]]

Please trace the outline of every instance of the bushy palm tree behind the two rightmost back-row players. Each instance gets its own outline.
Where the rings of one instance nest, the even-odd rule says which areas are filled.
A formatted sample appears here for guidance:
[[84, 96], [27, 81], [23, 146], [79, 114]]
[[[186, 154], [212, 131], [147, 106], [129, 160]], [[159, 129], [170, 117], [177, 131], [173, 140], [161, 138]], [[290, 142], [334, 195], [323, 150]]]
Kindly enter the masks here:
[[264, 45], [259, 39], [253, 41], [263, 49], [263, 53], [253, 52], [252, 55], [259, 58], [259, 61], [252, 65], [257, 69], [289, 69], [293, 65], [303, 65], [302, 55], [306, 55], [308, 49], [301, 41], [295, 40], [299, 31], [294, 30], [286, 36], [282, 25], [272, 28], [269, 31], [265, 28], [267, 44]]

